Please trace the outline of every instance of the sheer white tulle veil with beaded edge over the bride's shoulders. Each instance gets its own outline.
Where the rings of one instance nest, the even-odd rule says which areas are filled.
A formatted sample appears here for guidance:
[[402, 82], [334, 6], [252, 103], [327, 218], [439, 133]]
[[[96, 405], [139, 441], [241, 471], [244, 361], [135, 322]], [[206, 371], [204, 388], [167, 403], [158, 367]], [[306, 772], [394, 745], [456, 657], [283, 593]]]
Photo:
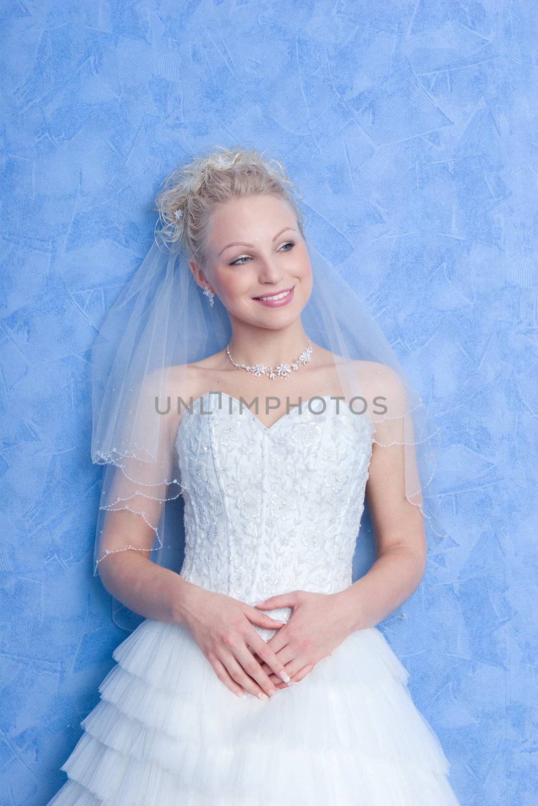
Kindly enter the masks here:
[[[340, 410], [368, 418], [372, 441], [401, 463], [402, 495], [423, 513], [428, 552], [440, 550], [446, 534], [433, 484], [439, 427], [357, 293], [310, 239], [305, 242], [312, 293], [302, 326], [313, 343], [334, 355], [344, 396]], [[154, 238], [102, 322], [92, 351], [91, 458], [105, 465], [94, 575], [109, 555], [125, 550], [180, 571], [176, 435], [184, 404], [192, 403], [186, 365], [222, 350], [230, 338], [227, 310], [216, 295], [209, 305], [186, 251], [171, 251]], [[373, 398], [376, 405], [369, 403]], [[111, 528], [110, 513], [123, 509], [143, 519], [144, 536]], [[115, 599], [113, 618], [127, 630], [140, 622]]]

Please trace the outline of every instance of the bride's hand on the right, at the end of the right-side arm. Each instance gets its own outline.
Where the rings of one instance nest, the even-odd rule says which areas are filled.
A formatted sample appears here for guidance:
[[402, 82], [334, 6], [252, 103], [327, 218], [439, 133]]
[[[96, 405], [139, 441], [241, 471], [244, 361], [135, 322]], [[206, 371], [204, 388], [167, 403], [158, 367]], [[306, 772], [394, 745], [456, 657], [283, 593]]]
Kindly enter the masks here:
[[[349, 601], [343, 596], [344, 593], [292, 591], [256, 603], [255, 606], [261, 610], [293, 608], [286, 625], [267, 642], [290, 675], [290, 683], [302, 680], [316, 663], [332, 654], [332, 650], [354, 631]], [[261, 667], [271, 672], [263, 662]], [[269, 674], [269, 679], [276, 688], [290, 685], [283, 683], [273, 672]]]

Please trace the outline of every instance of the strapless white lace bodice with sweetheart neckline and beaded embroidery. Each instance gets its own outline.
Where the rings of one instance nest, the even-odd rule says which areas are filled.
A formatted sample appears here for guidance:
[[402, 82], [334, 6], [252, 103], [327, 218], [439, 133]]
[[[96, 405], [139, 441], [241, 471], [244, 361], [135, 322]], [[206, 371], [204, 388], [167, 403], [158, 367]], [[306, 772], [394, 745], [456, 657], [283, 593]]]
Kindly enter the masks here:
[[[254, 605], [295, 589], [352, 584], [372, 426], [344, 401], [314, 398], [265, 426], [208, 392], [177, 430], [185, 501], [181, 576]], [[265, 610], [287, 621], [291, 609]], [[256, 627], [269, 640], [274, 630]]]

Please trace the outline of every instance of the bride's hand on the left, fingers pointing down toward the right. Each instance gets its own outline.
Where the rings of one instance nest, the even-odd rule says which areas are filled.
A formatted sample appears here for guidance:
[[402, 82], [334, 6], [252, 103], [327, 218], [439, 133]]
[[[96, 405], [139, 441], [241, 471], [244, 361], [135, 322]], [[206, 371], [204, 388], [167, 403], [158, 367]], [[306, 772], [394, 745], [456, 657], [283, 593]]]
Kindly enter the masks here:
[[249, 647], [285, 683], [290, 680], [277, 655], [252, 626], [278, 629], [285, 622], [261, 613], [246, 602], [196, 585], [183, 602], [182, 621], [219, 680], [237, 696], [244, 696], [245, 689], [265, 700], [277, 692]]

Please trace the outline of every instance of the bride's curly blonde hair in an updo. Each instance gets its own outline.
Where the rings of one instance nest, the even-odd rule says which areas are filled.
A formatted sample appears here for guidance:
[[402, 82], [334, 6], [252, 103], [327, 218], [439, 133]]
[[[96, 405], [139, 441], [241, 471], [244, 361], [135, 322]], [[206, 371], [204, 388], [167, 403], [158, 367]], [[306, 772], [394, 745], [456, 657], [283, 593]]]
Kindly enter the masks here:
[[304, 238], [302, 213], [294, 198], [297, 188], [284, 165], [273, 158], [265, 160], [265, 152], [254, 147], [215, 148], [218, 151], [178, 165], [161, 184], [163, 189], [155, 201], [162, 227], [156, 233], [166, 247], [170, 251], [183, 247], [203, 266], [211, 214], [231, 198], [256, 195], [272, 195], [286, 202]]

